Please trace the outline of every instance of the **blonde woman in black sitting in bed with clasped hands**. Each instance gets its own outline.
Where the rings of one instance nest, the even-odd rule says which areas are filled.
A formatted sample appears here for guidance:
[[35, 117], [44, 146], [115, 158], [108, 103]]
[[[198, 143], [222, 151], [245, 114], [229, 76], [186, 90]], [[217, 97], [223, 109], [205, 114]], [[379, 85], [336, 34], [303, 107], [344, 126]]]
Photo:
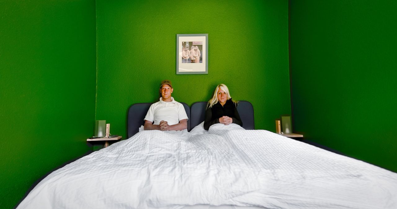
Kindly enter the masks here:
[[224, 125], [235, 123], [243, 126], [236, 107], [237, 102], [231, 99], [227, 86], [225, 84], [216, 86], [214, 96], [208, 102], [205, 111], [204, 129], [208, 130], [211, 125], [216, 123]]

